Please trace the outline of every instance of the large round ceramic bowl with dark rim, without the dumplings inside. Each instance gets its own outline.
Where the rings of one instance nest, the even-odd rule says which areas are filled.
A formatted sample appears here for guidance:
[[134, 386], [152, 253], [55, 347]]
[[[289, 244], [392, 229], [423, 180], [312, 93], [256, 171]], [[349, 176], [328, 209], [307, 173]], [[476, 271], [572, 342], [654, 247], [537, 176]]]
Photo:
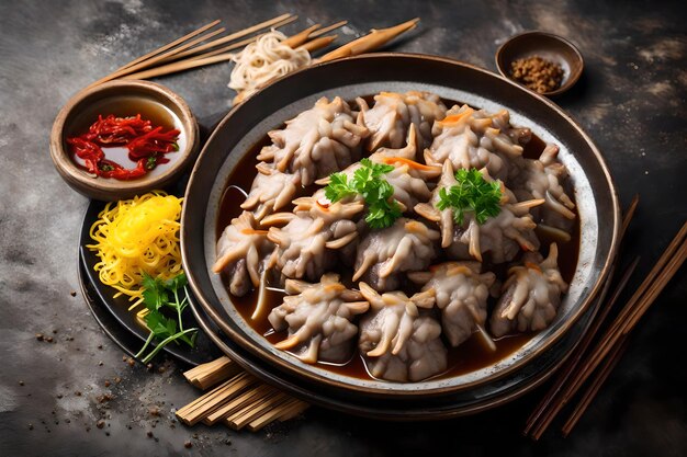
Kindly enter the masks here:
[[[345, 100], [380, 91], [426, 90], [487, 111], [507, 108], [514, 125], [531, 127], [544, 141], [560, 146], [560, 159], [574, 184], [581, 218], [581, 249], [570, 292], [552, 324], [525, 346], [494, 365], [449, 378], [386, 382], [334, 374], [275, 350], [244, 321], [221, 277], [215, 260], [215, 225], [228, 176], [267, 132], [312, 106], [323, 96]], [[604, 159], [588, 136], [547, 99], [486, 70], [454, 60], [381, 54], [316, 65], [267, 87], [232, 111], [217, 126], [193, 169], [182, 214], [184, 269], [200, 306], [232, 341], [251, 356], [291, 378], [357, 398], [416, 401], [450, 396], [513, 377], [544, 357], [588, 310], [615, 259], [619, 228], [616, 190]], [[549, 353], [549, 355], [551, 355]], [[556, 353], [556, 357], [564, 357]]]

